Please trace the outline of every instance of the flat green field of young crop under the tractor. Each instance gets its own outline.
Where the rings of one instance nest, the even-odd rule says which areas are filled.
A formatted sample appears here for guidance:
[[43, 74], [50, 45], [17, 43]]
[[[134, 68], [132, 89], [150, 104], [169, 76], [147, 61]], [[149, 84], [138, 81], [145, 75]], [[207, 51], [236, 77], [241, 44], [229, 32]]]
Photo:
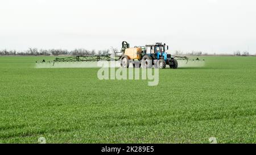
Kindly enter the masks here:
[[0, 57], [0, 143], [256, 143], [256, 57], [204, 58], [148, 86]]

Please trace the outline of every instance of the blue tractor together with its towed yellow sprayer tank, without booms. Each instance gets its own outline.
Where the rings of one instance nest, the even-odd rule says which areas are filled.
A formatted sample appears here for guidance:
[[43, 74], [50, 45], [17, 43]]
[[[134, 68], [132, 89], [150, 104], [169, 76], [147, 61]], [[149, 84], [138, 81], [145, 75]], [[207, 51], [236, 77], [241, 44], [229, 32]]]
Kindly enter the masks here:
[[[143, 47], [130, 48], [129, 43], [122, 42], [122, 56], [121, 66], [123, 68], [129, 68], [130, 62], [133, 63], [133, 67], [151, 68], [153, 65], [155, 68], [166, 68], [169, 65], [170, 68], [176, 69], [178, 62], [175, 57], [167, 54], [168, 45], [165, 43], [155, 43], [145, 45]], [[187, 57], [184, 57], [187, 58]], [[131, 61], [133, 60], [133, 61]]]

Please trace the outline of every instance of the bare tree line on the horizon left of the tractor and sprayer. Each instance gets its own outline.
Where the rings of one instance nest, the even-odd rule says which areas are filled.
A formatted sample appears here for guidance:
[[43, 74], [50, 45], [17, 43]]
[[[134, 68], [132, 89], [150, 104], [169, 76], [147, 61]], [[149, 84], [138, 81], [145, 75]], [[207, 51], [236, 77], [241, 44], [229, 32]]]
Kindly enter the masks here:
[[[112, 48], [114, 52], [118, 50], [116, 48]], [[72, 51], [68, 51], [67, 49], [37, 49], [37, 48], [29, 48], [26, 51], [18, 52], [16, 50], [0, 50], [0, 55], [22, 55], [22, 56], [49, 56], [49, 55], [73, 55], [73, 56], [94, 56], [94, 55], [109, 55], [110, 49], [95, 51], [94, 49], [89, 51], [87, 49], [79, 48], [74, 49]]]

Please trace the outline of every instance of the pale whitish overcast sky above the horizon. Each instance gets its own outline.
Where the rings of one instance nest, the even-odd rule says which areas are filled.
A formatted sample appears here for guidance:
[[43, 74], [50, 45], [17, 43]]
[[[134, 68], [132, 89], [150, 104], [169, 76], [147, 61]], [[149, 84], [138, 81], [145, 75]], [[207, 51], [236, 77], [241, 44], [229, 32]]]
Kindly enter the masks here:
[[256, 53], [253, 0], [0, 0], [0, 49], [121, 48]]

